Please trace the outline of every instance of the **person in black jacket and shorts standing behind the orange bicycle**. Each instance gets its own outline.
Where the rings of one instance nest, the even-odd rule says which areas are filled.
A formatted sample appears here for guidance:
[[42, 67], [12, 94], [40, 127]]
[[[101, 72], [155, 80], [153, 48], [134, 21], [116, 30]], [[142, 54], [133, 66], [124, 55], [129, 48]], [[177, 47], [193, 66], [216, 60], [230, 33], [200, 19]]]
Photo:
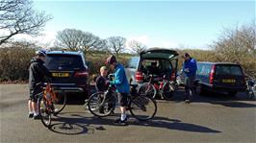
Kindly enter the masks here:
[[36, 52], [36, 57], [31, 60], [29, 67], [29, 89], [30, 97], [28, 101], [29, 118], [39, 119], [38, 115], [38, 93], [42, 91], [44, 77], [52, 78], [48, 69], [43, 65], [46, 57], [44, 50]]

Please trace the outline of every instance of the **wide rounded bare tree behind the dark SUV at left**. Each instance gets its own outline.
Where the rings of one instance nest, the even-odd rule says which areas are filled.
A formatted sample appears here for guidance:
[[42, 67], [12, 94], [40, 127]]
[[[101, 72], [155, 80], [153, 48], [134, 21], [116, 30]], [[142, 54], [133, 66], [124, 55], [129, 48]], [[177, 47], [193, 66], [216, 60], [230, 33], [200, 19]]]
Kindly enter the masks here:
[[76, 29], [64, 29], [57, 34], [59, 46], [69, 48], [71, 51], [81, 50], [85, 54], [90, 54], [94, 50], [101, 50], [105, 46], [105, 40], [91, 33]]

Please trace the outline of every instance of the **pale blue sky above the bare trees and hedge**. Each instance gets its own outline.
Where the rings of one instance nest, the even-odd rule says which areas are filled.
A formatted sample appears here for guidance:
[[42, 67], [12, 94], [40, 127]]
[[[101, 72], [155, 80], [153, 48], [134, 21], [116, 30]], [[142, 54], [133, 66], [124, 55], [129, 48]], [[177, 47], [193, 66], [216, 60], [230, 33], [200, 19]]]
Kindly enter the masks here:
[[52, 45], [58, 31], [72, 28], [95, 36], [124, 36], [147, 47], [208, 49], [224, 28], [255, 22], [255, 1], [71, 1], [35, 0], [34, 9], [53, 16], [41, 36]]

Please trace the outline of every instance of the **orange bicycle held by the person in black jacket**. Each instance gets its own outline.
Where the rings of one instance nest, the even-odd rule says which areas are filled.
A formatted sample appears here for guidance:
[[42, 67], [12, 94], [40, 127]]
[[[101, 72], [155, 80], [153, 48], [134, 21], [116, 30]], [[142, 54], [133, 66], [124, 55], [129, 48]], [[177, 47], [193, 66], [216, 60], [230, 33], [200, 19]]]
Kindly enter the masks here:
[[[50, 128], [52, 114], [56, 116], [64, 109], [67, 97], [62, 88], [54, 88], [50, 83], [45, 84], [46, 86], [42, 87], [43, 90], [39, 93], [38, 112], [43, 126]], [[62, 94], [55, 90], [61, 90]]]

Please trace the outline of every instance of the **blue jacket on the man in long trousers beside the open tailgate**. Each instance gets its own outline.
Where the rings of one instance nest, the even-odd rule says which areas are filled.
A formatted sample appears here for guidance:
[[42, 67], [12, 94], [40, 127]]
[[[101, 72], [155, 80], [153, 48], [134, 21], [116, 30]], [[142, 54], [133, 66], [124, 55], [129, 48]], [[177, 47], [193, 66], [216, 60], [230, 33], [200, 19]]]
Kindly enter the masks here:
[[197, 65], [196, 65], [196, 60], [191, 59], [191, 60], [186, 60], [183, 63], [183, 71], [189, 68], [190, 72], [184, 72], [186, 77], [192, 77], [195, 76], [196, 70], [197, 70]]

